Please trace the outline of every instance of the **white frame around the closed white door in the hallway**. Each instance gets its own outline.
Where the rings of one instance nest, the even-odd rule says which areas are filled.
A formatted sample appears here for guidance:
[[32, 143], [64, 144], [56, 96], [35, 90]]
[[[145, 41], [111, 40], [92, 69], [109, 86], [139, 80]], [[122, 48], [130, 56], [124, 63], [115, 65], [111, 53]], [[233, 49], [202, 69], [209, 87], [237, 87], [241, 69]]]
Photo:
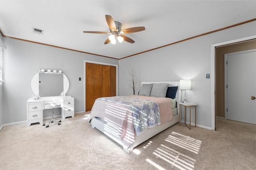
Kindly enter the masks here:
[[241, 53], [250, 53], [250, 52], [254, 52], [256, 51], [256, 49], [251, 49], [251, 50], [245, 50], [245, 51], [238, 51], [238, 52], [234, 52], [234, 53], [227, 53], [224, 54], [224, 89], [225, 89], [225, 119], [228, 119], [228, 90], [226, 88], [227, 82], [228, 82], [228, 65], [226, 64], [226, 62], [228, 61], [228, 55], [236, 55], [236, 54], [241, 54]]

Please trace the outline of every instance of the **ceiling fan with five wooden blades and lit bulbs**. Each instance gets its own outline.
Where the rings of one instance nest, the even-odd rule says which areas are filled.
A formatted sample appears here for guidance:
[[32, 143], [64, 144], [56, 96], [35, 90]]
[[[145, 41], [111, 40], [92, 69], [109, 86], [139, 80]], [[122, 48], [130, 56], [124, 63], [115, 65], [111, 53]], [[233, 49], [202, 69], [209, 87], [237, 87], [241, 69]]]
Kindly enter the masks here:
[[121, 43], [122, 41], [126, 41], [128, 43], [134, 43], [132, 39], [129, 37], [126, 37], [121, 34], [127, 34], [127, 33], [136, 33], [139, 31], [144, 31], [145, 27], [132, 27], [121, 30], [122, 24], [118, 21], [114, 21], [113, 18], [109, 15], [105, 15], [106, 21], [108, 23], [108, 27], [110, 29], [110, 32], [100, 32], [100, 31], [84, 31], [84, 33], [100, 33], [100, 34], [111, 34], [108, 39], [106, 39], [104, 44], [112, 43], [116, 44], [116, 38]]

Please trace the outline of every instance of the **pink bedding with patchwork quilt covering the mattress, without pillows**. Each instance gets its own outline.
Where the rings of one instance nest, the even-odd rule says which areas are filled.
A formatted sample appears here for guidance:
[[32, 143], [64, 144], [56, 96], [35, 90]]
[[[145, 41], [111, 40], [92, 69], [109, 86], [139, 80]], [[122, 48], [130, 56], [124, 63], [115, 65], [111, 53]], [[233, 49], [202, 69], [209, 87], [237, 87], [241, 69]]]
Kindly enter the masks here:
[[[125, 100], [125, 102], [119, 102], [117, 100], [118, 98]], [[135, 104], [134, 107], [127, 103], [127, 101], [129, 100], [131, 102], [130, 104], [134, 105], [134, 103], [136, 103], [135, 101], [137, 101], [138, 103]], [[146, 101], [149, 105], [142, 106], [141, 103], [143, 102], [141, 101]], [[146, 131], [146, 129], [154, 127], [155, 125], [159, 125], [172, 120], [172, 101], [175, 100], [171, 98], [160, 98], [141, 95], [99, 98], [95, 101], [94, 106], [92, 107], [89, 122], [94, 117], [101, 118], [103, 121], [107, 122], [108, 125], [110, 125], [113, 129], [117, 129], [118, 136], [122, 140], [122, 143], [126, 147], [130, 147], [132, 143], [134, 143], [136, 135], [140, 135], [141, 133]], [[155, 105], [156, 107], [153, 108], [153, 105]], [[149, 121], [143, 120], [142, 124], [140, 124], [138, 120], [141, 121], [142, 117], [134, 118], [134, 115], [138, 115], [136, 114], [138, 112], [147, 113], [143, 116], [143, 118], [151, 117], [151, 119], [153, 120], [152, 122], [154, 123], [144, 126], [143, 123]], [[138, 127], [142, 128], [140, 129]]]

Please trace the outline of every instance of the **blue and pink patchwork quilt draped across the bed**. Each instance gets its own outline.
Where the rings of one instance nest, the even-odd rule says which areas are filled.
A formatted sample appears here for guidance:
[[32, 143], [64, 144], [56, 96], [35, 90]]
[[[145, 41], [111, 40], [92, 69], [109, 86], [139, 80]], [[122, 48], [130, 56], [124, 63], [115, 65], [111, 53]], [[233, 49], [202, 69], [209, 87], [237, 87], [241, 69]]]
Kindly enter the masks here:
[[98, 98], [97, 100], [128, 106], [132, 110], [136, 135], [140, 135], [148, 128], [160, 125], [161, 123], [158, 103], [153, 100], [130, 98], [128, 96]]

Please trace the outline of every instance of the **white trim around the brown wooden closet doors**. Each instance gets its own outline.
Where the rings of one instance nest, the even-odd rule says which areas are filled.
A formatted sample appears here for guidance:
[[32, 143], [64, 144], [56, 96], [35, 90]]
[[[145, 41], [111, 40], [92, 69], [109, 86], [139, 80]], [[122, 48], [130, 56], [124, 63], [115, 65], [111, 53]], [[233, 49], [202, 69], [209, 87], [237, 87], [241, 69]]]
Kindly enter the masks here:
[[101, 65], [108, 65], [108, 66], [116, 66], [116, 96], [118, 96], [118, 65], [117, 64], [110, 64], [110, 63], [102, 63], [102, 62], [97, 62], [97, 61], [89, 61], [89, 60], [84, 60], [84, 112], [86, 111], [86, 90], [85, 90], [85, 85], [86, 85], [86, 68], [85, 65], [86, 63], [93, 63], [93, 64], [101, 64]]

